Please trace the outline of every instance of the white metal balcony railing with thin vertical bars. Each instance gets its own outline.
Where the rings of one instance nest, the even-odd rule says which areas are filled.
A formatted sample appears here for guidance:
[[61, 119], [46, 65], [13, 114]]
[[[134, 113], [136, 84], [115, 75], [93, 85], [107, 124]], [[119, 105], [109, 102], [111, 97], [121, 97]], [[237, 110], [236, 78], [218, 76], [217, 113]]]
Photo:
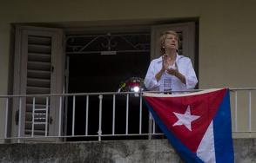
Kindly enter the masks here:
[[[232, 88], [230, 91], [233, 136], [255, 137], [256, 88]], [[0, 110], [5, 110], [5, 117], [4, 124], [0, 125], [4, 131], [0, 140], [155, 138], [162, 133], [141, 94], [1, 95], [0, 103], [4, 108]]]

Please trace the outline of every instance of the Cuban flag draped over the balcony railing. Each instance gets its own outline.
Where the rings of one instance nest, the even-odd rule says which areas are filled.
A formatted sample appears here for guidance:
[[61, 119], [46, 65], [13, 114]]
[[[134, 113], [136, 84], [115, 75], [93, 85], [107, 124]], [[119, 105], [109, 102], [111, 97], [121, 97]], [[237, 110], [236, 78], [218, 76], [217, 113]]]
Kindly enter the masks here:
[[185, 162], [234, 162], [229, 89], [144, 96], [154, 120]]

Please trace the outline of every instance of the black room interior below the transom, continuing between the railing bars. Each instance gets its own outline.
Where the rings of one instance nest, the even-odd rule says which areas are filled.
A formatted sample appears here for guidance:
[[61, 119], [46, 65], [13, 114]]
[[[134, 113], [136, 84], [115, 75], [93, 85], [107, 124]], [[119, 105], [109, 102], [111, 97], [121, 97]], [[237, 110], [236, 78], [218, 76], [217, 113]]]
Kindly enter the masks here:
[[[125, 46], [125, 42], [123, 44]], [[129, 48], [129, 47], [128, 47]], [[127, 49], [127, 47], [126, 47]], [[150, 63], [148, 52], [118, 52], [116, 55], [72, 54], [69, 57], [69, 93], [117, 92], [119, 84], [130, 77], [145, 78]], [[72, 132], [72, 97], [68, 99], [67, 134]], [[125, 134], [126, 96], [116, 97], [116, 134]], [[90, 96], [88, 134], [98, 133], [98, 96]], [[75, 134], [85, 134], [86, 96], [76, 98]], [[129, 134], [138, 134], [139, 97], [130, 95]], [[142, 130], [148, 130], [148, 111], [143, 104]], [[93, 124], [93, 125], [91, 125]], [[111, 134], [112, 127], [112, 95], [104, 95], [102, 109], [103, 134]], [[125, 137], [105, 137], [103, 140], [124, 139]], [[144, 139], [135, 137], [131, 139]], [[97, 140], [98, 138], [72, 138], [68, 140]], [[125, 138], [127, 139], [127, 137]], [[128, 138], [130, 139], [130, 137]]]

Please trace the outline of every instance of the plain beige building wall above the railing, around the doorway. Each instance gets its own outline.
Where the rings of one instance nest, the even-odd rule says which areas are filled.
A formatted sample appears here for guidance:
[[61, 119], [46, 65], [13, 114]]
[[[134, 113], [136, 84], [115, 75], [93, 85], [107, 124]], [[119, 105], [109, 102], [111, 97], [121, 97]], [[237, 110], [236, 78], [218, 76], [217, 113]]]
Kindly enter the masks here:
[[[7, 95], [10, 85], [11, 23], [83, 22], [90, 26], [92, 22], [139, 23], [190, 17], [199, 18], [199, 88], [256, 87], [255, 6], [253, 0], [1, 1], [0, 95]], [[3, 125], [2, 107], [0, 113]]]

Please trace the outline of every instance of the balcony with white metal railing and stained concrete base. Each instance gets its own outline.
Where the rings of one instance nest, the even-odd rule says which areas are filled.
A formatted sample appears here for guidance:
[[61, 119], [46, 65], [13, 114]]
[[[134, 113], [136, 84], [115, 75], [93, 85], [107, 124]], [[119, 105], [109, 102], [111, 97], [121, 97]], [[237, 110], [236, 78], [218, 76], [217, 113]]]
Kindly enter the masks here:
[[[256, 88], [230, 93], [235, 161], [253, 162]], [[1, 162], [182, 162], [145, 108], [142, 93], [0, 98]]]

